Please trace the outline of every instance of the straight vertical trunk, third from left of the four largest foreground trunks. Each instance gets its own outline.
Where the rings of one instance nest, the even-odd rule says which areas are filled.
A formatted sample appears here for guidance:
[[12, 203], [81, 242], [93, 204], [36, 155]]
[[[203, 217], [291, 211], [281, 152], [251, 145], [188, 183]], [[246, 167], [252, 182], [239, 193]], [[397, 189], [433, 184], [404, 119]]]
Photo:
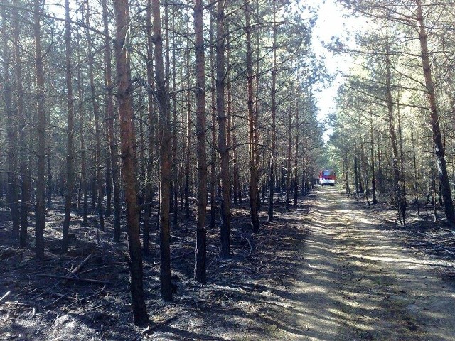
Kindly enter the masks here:
[[196, 35], [196, 149], [198, 155], [198, 208], [196, 214], [194, 279], [200, 283], [205, 283], [207, 239], [205, 230], [205, 212], [207, 207], [207, 151], [205, 148], [205, 131], [207, 124], [205, 117], [205, 58], [202, 0], [194, 1], [194, 31]]

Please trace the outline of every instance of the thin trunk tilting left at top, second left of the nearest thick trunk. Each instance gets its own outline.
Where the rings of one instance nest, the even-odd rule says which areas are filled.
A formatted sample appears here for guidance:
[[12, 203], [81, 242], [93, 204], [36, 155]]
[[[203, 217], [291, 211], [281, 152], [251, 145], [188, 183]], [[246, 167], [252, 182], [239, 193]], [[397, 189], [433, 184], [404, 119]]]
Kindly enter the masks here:
[[95, 172], [96, 172], [96, 183], [97, 183], [97, 209], [98, 209], [98, 219], [100, 220], [100, 229], [105, 230], [105, 217], [104, 209], [102, 205], [103, 201], [103, 190], [102, 190], [102, 169], [101, 169], [101, 126], [100, 126], [100, 108], [97, 103], [97, 94], [95, 91], [95, 78], [93, 71], [93, 52], [92, 52], [92, 37], [90, 36], [90, 8], [87, 1], [87, 16], [85, 17], [85, 25], [87, 29], [85, 31], [87, 37], [87, 51], [88, 51], [88, 76], [90, 81], [90, 94], [92, 100], [92, 110], [93, 117], [95, 118]]

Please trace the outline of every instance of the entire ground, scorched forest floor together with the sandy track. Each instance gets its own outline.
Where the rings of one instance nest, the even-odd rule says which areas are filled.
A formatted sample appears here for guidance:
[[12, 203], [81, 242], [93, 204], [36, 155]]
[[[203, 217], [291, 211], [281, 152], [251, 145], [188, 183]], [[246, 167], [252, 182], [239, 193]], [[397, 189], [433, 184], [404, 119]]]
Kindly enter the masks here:
[[[111, 242], [110, 220], [97, 232], [95, 215], [87, 226], [74, 216], [70, 251], [60, 254], [63, 207], [55, 203], [45, 261], [36, 263], [33, 249], [11, 240], [3, 207], [0, 340], [455, 340], [454, 229], [427, 211], [408, 212], [403, 228], [387, 205], [368, 207], [338, 188], [278, 208], [272, 223], [262, 213], [255, 235], [247, 205], [232, 209], [231, 261], [218, 261], [218, 232], [208, 230], [205, 286], [192, 279], [194, 222], [179, 221], [171, 302], [159, 296], [154, 230], [144, 289], [155, 329], [143, 335], [132, 324], [126, 237]], [[48, 277], [70, 276], [90, 254], [73, 277], [99, 283]]]

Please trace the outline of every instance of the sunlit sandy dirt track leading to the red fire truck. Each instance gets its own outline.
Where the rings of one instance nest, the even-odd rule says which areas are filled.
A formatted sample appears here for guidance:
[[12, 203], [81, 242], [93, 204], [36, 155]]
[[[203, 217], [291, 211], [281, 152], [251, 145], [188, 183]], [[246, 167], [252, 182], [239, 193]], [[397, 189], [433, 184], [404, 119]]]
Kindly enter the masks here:
[[[455, 340], [455, 289], [438, 269], [453, 262], [400, 247], [382, 212], [320, 188], [301, 271], [276, 340]], [[316, 208], [317, 207], [317, 208]], [[397, 227], [399, 228], [399, 227]]]

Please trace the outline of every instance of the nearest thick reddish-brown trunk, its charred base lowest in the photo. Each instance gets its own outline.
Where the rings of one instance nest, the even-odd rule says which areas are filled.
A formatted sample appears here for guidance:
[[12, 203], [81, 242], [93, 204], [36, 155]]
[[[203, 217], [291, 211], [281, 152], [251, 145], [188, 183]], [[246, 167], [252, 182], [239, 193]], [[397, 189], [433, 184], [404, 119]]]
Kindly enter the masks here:
[[129, 5], [127, 0], [114, 0], [116, 42], [115, 60], [117, 62], [117, 100], [119, 104], [120, 138], [122, 142], [122, 177], [124, 182], [125, 202], [127, 204], [127, 231], [129, 246], [129, 279], [134, 324], [149, 322], [147, 314], [139, 237], [139, 219], [136, 197], [136, 178], [134, 174], [134, 127], [131, 70], [127, 45], [129, 38]]

